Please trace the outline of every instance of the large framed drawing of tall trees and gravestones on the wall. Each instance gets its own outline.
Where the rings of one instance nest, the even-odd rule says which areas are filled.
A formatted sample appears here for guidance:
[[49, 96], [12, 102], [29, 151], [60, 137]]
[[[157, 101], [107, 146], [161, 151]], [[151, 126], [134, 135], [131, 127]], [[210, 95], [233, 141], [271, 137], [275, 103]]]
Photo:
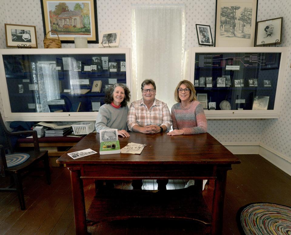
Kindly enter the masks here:
[[216, 47], [253, 47], [258, 0], [216, 0]]

